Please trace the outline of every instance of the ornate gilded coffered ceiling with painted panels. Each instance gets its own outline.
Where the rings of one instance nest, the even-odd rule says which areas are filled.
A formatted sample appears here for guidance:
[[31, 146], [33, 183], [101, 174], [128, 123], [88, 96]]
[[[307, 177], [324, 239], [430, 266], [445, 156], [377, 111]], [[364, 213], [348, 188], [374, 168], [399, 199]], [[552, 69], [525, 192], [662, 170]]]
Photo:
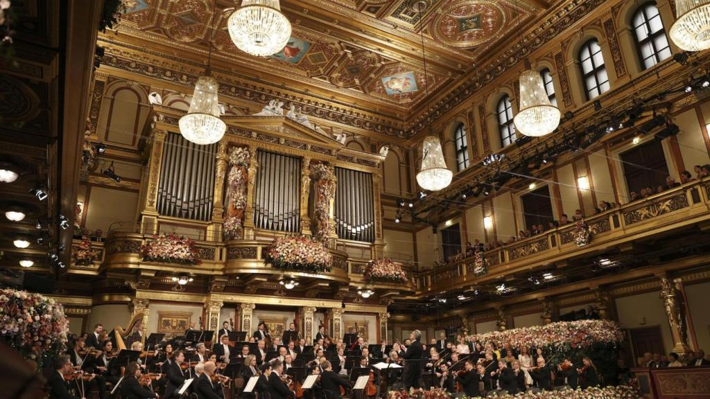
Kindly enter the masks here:
[[280, 53], [256, 58], [237, 49], [226, 29], [239, 1], [219, 0], [216, 12], [213, 0], [125, 3], [118, 35], [107, 33], [107, 40], [206, 62], [214, 24], [215, 67], [399, 119], [427, 94], [456, 84], [548, 6], [544, 0], [282, 0], [292, 40]]

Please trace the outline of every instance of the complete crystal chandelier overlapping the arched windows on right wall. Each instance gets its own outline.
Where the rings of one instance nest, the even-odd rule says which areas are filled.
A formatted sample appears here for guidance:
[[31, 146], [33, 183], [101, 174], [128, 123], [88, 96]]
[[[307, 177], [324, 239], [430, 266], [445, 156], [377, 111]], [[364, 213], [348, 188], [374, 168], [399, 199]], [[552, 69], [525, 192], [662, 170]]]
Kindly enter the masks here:
[[550, 103], [542, 76], [535, 70], [520, 74], [520, 111], [513, 121], [515, 129], [532, 137], [550, 134], [559, 125], [559, 109]]

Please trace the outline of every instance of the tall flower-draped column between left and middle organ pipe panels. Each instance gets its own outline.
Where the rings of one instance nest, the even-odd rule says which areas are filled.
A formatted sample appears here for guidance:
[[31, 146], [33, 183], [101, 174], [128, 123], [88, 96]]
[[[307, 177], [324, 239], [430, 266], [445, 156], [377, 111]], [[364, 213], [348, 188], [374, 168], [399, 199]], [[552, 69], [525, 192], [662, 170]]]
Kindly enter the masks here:
[[229, 153], [227, 176], [227, 217], [224, 221], [224, 239], [241, 239], [244, 236], [244, 209], [249, 172], [249, 148], [235, 147]]

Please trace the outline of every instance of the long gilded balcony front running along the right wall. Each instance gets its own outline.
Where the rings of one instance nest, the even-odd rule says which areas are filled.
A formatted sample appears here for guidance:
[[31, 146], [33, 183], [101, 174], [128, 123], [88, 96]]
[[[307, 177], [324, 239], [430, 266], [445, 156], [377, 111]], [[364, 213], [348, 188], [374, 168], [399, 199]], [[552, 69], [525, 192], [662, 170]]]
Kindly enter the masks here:
[[[420, 293], [438, 292], [457, 285], [495, 280], [503, 274], [534, 268], [564, 258], [594, 253], [610, 245], [633, 242], [701, 222], [710, 222], [710, 177], [695, 180], [672, 190], [629, 202], [621, 207], [584, 218], [578, 226], [571, 222], [544, 234], [515, 241], [484, 253], [487, 273], [476, 276], [474, 256], [419, 273]], [[499, 237], [503, 241], [506, 237]], [[466, 276], [466, 278], [462, 278]]]

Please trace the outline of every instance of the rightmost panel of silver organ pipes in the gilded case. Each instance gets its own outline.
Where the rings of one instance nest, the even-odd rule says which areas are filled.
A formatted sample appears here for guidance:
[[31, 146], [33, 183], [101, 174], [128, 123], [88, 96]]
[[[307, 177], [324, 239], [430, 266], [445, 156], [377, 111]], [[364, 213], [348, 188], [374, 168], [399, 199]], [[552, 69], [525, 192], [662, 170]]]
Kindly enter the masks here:
[[338, 179], [335, 195], [335, 224], [341, 239], [375, 241], [372, 175], [335, 168]]

